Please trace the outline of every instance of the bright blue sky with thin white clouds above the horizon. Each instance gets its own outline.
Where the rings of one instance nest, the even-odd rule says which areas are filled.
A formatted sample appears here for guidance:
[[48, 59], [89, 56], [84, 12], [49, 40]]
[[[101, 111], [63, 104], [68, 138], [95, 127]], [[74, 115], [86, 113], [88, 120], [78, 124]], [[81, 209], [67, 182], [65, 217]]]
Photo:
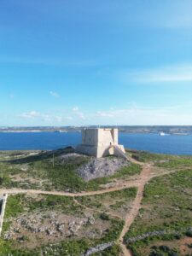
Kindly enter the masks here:
[[192, 1], [1, 0], [0, 125], [192, 125]]

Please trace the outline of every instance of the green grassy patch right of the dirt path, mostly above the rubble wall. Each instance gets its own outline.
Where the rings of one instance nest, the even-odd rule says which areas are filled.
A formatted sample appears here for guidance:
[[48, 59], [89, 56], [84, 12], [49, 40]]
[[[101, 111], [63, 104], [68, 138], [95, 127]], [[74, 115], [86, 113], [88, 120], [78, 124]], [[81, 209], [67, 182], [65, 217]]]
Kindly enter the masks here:
[[[134, 255], [143, 255], [137, 253], [151, 241], [172, 241], [185, 235], [186, 229], [192, 226], [192, 207], [189, 204], [191, 195], [192, 172], [187, 170], [154, 177], [146, 185], [143, 208], [126, 234], [125, 241], [148, 232], [167, 230], [168, 233], [129, 242], [127, 245], [131, 247]], [[172, 231], [176, 231], [177, 236]]]

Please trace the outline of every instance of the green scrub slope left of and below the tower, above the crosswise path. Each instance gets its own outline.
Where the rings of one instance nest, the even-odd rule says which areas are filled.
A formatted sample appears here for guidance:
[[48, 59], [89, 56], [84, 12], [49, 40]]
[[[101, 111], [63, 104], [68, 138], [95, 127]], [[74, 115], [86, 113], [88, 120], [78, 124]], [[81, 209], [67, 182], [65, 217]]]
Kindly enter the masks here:
[[[117, 178], [129, 178], [141, 172], [141, 166], [128, 163], [113, 175], [85, 182], [77, 169], [89, 156], [65, 157], [73, 148], [44, 152], [4, 152], [0, 154], [0, 187], [79, 192], [101, 189]], [[64, 156], [64, 157], [63, 157]], [[54, 161], [54, 162], [53, 162]]]

